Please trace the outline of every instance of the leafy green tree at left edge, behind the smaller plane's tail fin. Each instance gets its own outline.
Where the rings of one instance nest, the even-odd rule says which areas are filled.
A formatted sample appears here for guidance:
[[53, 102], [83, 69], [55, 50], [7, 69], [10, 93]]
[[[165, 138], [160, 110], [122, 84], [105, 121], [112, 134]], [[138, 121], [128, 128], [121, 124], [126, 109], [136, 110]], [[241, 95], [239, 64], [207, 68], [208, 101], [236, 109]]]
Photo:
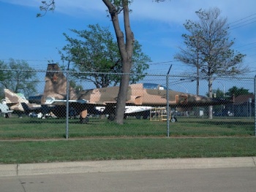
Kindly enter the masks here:
[[[26, 61], [14, 60], [5, 63], [0, 61], [0, 85], [15, 93], [23, 93], [25, 96], [37, 93], [37, 72]], [[1, 89], [3, 91], [3, 89]]]

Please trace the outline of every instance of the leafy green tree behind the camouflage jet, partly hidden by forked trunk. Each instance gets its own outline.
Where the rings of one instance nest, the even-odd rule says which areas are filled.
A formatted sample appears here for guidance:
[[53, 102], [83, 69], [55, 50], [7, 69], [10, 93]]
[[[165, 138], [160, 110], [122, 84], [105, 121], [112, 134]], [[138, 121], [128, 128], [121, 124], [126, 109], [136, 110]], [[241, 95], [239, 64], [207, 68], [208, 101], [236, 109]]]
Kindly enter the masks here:
[[[75, 72], [86, 72], [70, 73], [76, 79], [89, 80], [97, 88], [117, 85], [121, 81], [120, 75], [116, 74], [121, 73], [121, 55], [113, 35], [108, 28], [101, 28], [98, 24], [89, 25], [88, 28], [89, 30], [82, 31], [72, 29], [71, 31], [78, 36], [76, 38], [64, 33], [69, 44], [63, 47], [63, 52], [60, 51], [61, 58], [72, 61], [75, 64]], [[147, 63], [150, 61], [151, 59], [142, 53], [141, 45], [135, 40], [131, 73], [140, 75], [131, 76], [130, 83], [143, 79], [142, 73], [148, 69]]]

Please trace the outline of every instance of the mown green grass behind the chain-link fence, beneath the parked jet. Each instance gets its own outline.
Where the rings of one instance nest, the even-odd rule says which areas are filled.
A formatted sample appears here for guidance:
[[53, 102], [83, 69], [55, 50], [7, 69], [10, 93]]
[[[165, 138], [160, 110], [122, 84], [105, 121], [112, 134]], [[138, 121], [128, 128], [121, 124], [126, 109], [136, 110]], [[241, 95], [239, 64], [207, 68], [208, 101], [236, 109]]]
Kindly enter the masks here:
[[[89, 124], [80, 124], [78, 120], [69, 120], [69, 137], [165, 137], [166, 122], [124, 120], [124, 125], [117, 125], [108, 120], [91, 119]], [[0, 139], [45, 139], [65, 138], [64, 119], [37, 118], [1, 118]], [[179, 118], [177, 123], [170, 123], [170, 136], [175, 137], [219, 137], [219, 136], [254, 136], [255, 124], [251, 119], [202, 119]]]

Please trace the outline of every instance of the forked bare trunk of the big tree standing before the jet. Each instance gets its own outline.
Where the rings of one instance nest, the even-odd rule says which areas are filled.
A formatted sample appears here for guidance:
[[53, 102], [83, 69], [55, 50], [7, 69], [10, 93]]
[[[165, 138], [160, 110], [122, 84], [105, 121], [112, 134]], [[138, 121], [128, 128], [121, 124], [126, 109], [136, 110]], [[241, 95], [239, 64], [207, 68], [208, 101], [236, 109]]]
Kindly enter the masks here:
[[125, 104], [127, 100], [127, 91], [129, 87], [129, 75], [131, 67], [132, 67], [132, 51], [133, 51], [133, 43], [134, 43], [134, 35], [129, 25], [129, 4], [128, 0], [122, 0], [123, 12], [124, 12], [124, 30], [125, 30], [125, 42], [124, 42], [124, 34], [121, 31], [119, 21], [118, 21], [118, 11], [116, 7], [111, 4], [109, 0], [102, 0], [105, 5], [108, 7], [108, 11], [110, 12], [110, 16], [112, 19], [112, 23], [116, 32], [116, 39], [118, 42], [118, 48], [121, 54], [122, 60], [122, 73], [121, 83], [118, 92], [118, 99], [116, 101], [116, 123], [123, 124], [124, 123], [124, 110]]

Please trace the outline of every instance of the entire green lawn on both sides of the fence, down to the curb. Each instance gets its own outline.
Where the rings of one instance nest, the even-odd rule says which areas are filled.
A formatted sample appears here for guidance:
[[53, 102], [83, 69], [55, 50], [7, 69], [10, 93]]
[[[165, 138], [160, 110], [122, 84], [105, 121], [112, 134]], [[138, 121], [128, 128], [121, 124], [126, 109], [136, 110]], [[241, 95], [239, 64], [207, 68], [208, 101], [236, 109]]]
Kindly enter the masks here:
[[[129, 118], [124, 125], [91, 118], [1, 118], [0, 164], [138, 158], [256, 156], [253, 119], [178, 118], [167, 123]], [[45, 139], [45, 140], [44, 140]]]

